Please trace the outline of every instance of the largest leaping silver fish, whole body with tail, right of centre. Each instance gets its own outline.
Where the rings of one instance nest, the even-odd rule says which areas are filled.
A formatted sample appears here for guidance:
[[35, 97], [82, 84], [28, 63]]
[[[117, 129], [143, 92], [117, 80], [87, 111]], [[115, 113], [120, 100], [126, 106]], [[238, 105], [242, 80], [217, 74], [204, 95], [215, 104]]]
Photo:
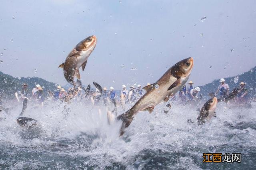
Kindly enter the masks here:
[[178, 92], [187, 82], [193, 64], [192, 57], [184, 59], [169, 68], [157, 82], [144, 87], [143, 89], [147, 91], [146, 94], [130, 110], [117, 117], [118, 120], [123, 121], [120, 135], [130, 125], [136, 113], [139, 111], [151, 113], [157, 104], [167, 102], [171, 96]]

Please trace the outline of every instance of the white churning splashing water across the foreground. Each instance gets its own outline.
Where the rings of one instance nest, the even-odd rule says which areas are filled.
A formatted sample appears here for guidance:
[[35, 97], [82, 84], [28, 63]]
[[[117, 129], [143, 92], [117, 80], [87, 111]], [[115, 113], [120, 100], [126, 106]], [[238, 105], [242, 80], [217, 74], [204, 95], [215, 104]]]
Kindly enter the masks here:
[[[0, 115], [3, 169], [224, 169], [227, 166], [202, 163], [203, 153], [208, 152], [240, 152], [242, 162], [230, 163], [228, 167], [255, 168], [250, 161], [256, 155], [255, 103], [252, 109], [227, 109], [225, 104], [218, 104], [217, 117], [200, 126], [187, 123], [188, 119], [196, 122], [196, 107], [172, 104], [172, 109], [163, 113], [166, 104], [160, 104], [151, 114], [138, 113], [122, 137], [119, 137], [121, 123], [108, 125], [103, 106], [93, 108], [82, 101], [59, 107], [58, 104], [49, 101], [45, 106], [35, 107], [29, 102], [24, 116], [39, 122], [31, 129], [16, 123], [21, 102], [16, 102], [9, 114]], [[119, 110], [118, 115], [121, 113]]]

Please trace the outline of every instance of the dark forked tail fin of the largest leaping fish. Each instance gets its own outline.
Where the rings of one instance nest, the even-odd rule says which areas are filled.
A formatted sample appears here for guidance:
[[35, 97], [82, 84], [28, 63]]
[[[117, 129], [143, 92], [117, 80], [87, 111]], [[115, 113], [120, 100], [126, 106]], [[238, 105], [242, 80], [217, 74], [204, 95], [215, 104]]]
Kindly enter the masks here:
[[128, 127], [132, 123], [132, 120], [135, 114], [136, 114], [136, 111], [134, 111], [133, 109], [130, 109], [125, 113], [123, 113], [122, 115], [119, 115], [118, 117], [116, 117], [116, 120], [122, 120], [120, 136], [124, 134], [124, 130], [126, 129], [126, 127]]

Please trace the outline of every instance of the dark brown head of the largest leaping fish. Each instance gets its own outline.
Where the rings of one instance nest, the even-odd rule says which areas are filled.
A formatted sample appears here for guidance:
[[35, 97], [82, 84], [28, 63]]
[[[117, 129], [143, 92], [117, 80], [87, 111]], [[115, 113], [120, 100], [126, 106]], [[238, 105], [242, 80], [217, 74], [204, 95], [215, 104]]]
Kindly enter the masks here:
[[194, 61], [192, 57], [184, 59], [172, 66], [171, 74], [176, 78], [189, 76], [193, 65]]

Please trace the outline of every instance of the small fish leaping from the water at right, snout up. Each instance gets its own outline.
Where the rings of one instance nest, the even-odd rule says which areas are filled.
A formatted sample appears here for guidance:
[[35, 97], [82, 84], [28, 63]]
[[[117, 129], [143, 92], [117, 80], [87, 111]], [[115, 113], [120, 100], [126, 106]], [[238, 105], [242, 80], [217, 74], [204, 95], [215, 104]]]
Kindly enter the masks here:
[[216, 97], [213, 97], [209, 99], [204, 106], [200, 110], [200, 114], [197, 118], [198, 125], [205, 123], [205, 121], [209, 121], [212, 119], [213, 116], [215, 116], [215, 109], [218, 103], [218, 99]]

